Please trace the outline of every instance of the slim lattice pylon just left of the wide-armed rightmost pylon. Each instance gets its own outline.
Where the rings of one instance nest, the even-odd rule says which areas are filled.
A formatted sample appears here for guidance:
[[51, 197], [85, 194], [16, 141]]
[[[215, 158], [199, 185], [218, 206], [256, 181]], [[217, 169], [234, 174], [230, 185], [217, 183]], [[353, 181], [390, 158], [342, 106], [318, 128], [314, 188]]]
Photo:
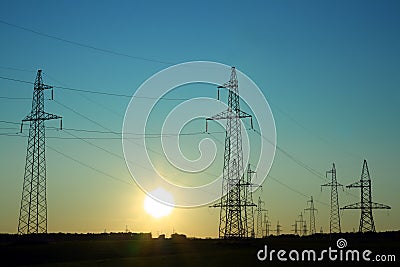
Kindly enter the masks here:
[[321, 190], [323, 186], [329, 186], [331, 188], [331, 213], [329, 222], [329, 233], [341, 233], [342, 229], [340, 227], [340, 213], [339, 213], [339, 195], [337, 188], [343, 185], [339, 184], [336, 179], [336, 167], [335, 163], [332, 164], [332, 169], [326, 172], [326, 176], [331, 174], [331, 182], [321, 185]]

